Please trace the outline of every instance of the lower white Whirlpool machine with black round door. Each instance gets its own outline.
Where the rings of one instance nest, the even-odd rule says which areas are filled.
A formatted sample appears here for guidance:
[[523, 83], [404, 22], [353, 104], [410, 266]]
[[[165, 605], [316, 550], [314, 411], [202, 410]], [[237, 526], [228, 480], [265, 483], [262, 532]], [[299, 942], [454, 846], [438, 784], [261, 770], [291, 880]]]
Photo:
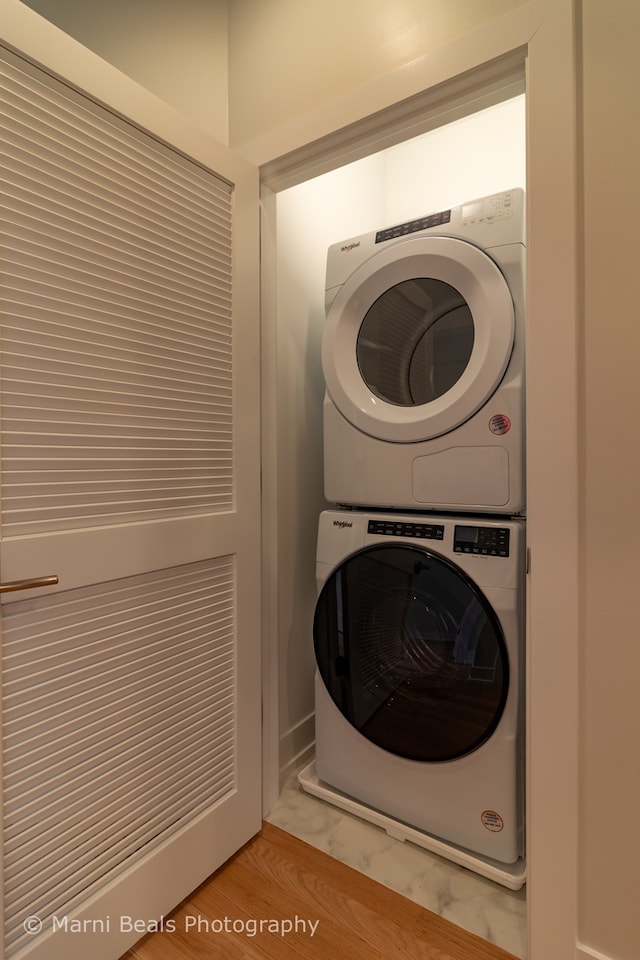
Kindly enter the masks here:
[[522, 520], [320, 517], [320, 783], [501, 864], [524, 857], [524, 555]]

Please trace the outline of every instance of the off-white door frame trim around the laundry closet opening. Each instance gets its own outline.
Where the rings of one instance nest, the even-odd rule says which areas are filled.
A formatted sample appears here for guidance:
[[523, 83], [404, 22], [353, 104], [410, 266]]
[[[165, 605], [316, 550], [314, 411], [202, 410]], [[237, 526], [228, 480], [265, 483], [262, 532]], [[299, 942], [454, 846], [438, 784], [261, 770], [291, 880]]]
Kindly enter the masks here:
[[[242, 152], [261, 166], [263, 198], [263, 345], [265, 409], [276, 383], [274, 193], [474, 113], [491, 102], [527, 94], [528, 218], [528, 585], [527, 767], [528, 912], [530, 960], [576, 954], [578, 876], [579, 659], [579, 282], [578, 140], [575, 25], [572, 0], [528, 3], [473, 35], [449, 44], [442, 56], [407, 77], [382, 78], [375, 89], [345, 94], [340, 103], [276, 131]], [[397, 81], [397, 82], [396, 82]], [[405, 82], [405, 97], [389, 102]], [[422, 85], [420, 85], [422, 84]], [[509, 91], [512, 91], [511, 93]], [[493, 100], [491, 98], [494, 98]], [[332, 111], [334, 126], [327, 124]], [[350, 122], [340, 124], [340, 118]], [[550, 144], [553, 150], [550, 151]], [[533, 202], [535, 201], [535, 202]], [[558, 229], [561, 225], [561, 229]], [[273, 426], [271, 425], [273, 424]], [[553, 430], [549, 429], [553, 424]], [[277, 427], [265, 420], [265, 448], [276, 449]], [[273, 431], [273, 433], [271, 433]], [[549, 469], [549, 464], [554, 469]], [[264, 516], [276, 502], [277, 465], [265, 463]], [[275, 595], [275, 523], [265, 521], [270, 560], [266, 593]], [[277, 780], [277, 610], [266, 629], [265, 789]], [[274, 748], [274, 744], [276, 747]], [[562, 783], [561, 791], [548, 784]], [[276, 788], [277, 789], [277, 788]]]

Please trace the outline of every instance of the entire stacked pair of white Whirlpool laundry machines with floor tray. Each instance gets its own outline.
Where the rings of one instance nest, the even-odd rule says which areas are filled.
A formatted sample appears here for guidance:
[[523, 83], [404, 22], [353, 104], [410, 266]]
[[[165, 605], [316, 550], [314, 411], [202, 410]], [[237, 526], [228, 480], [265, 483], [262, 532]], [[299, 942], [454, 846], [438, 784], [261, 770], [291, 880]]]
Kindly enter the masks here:
[[329, 248], [302, 786], [524, 882], [524, 194]]

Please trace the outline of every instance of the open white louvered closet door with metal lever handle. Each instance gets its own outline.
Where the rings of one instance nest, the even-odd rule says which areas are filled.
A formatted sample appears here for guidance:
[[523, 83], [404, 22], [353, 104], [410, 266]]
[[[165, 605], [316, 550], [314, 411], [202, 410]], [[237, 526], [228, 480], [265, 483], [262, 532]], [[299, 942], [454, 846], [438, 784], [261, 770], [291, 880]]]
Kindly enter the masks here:
[[260, 824], [257, 176], [0, 75], [3, 957], [115, 960]]

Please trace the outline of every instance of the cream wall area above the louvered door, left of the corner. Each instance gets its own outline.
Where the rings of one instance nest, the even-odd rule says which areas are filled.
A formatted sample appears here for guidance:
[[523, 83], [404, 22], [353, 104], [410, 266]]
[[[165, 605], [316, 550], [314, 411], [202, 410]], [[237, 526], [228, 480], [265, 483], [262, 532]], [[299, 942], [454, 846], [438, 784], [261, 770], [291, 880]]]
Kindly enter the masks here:
[[23, 2], [227, 143], [227, 0]]

